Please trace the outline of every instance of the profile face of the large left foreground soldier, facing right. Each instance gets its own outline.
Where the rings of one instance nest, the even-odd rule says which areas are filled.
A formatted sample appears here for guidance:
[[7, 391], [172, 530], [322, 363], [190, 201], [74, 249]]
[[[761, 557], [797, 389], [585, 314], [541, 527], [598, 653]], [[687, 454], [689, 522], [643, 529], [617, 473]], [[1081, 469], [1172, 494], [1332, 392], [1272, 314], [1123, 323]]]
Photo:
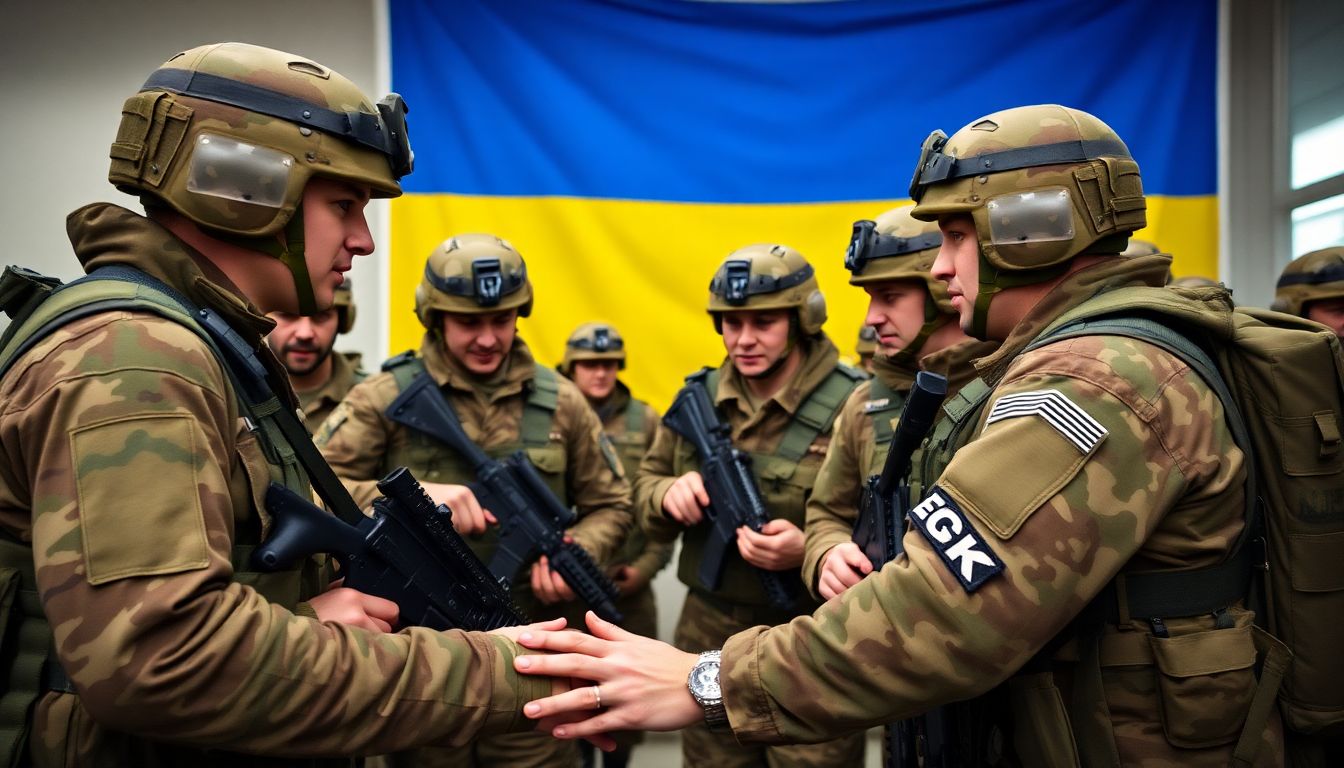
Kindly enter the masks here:
[[374, 253], [374, 235], [364, 219], [371, 188], [313, 176], [304, 187], [304, 260], [317, 307], [332, 305], [336, 286], [356, 256]]

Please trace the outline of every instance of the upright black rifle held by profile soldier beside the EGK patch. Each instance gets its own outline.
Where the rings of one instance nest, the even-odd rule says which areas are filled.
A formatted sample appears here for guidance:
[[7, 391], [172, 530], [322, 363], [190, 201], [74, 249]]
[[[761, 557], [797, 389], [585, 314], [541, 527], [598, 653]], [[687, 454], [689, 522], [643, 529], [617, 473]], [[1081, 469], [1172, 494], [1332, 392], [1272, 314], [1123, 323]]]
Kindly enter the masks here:
[[[938, 417], [938, 408], [948, 397], [948, 379], [941, 374], [919, 371], [915, 386], [900, 410], [900, 421], [891, 436], [887, 461], [882, 475], [868, 477], [859, 499], [859, 518], [853, 522], [853, 541], [868, 555], [872, 569], [880, 570], [903, 550], [900, 539], [906, 533], [910, 514], [910, 463]], [[948, 713], [934, 707], [925, 714], [896, 722], [883, 729], [884, 765], [913, 768], [915, 765], [942, 767], [946, 760]], [[923, 757], [921, 761], [921, 756]]]

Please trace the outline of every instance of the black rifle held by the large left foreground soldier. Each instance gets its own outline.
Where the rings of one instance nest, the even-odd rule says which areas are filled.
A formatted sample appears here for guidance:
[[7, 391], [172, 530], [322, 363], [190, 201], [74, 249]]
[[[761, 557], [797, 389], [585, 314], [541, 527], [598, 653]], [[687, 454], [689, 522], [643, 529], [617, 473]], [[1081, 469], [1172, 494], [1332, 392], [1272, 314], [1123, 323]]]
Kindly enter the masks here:
[[508, 586], [497, 581], [453, 530], [453, 512], [434, 506], [410, 471], [379, 480], [371, 516], [348, 525], [289, 488], [271, 483], [266, 508], [276, 523], [253, 550], [257, 570], [290, 568], [324, 551], [340, 562], [344, 585], [396, 603], [399, 627], [495, 629], [524, 624]]

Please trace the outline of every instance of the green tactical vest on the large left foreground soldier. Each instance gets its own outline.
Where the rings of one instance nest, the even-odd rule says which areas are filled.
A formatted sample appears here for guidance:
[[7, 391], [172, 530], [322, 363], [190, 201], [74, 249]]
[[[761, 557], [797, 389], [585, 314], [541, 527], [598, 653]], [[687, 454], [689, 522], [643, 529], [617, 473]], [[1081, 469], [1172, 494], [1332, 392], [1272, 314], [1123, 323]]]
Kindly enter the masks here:
[[[0, 348], [0, 378], [26, 352], [62, 325], [116, 311], [153, 313], [188, 328], [200, 338], [228, 374], [239, 413], [257, 437], [270, 480], [309, 498], [308, 475], [277, 421], [281, 409], [286, 408], [284, 401], [274, 393], [270, 393], [269, 398], [245, 395], [246, 391], [258, 391], [259, 385], [265, 385], [265, 370], [235, 371], [212, 336], [226, 332], [227, 325], [218, 316], [194, 307], [169, 286], [140, 270], [106, 266], [47, 295], [35, 296], [15, 312], [13, 325], [5, 334], [4, 346]], [[215, 325], [207, 330], [203, 320]], [[246, 387], [241, 381], [243, 375], [254, 377]], [[255, 381], [257, 378], [259, 381]], [[265, 386], [269, 390], [269, 385]], [[265, 488], [253, 491], [254, 504], [259, 507], [258, 499], [263, 496]], [[259, 543], [259, 525], [254, 529], [238, 526], [235, 530], [230, 553], [234, 581], [246, 584], [267, 601], [288, 608], [317, 594], [325, 586], [325, 578], [320, 573], [321, 568], [313, 561], [277, 573], [251, 569], [250, 557]], [[51, 627], [38, 600], [32, 547], [0, 537], [0, 644], [3, 644], [0, 658], [11, 659], [7, 685], [0, 693], [0, 760], [8, 759], [5, 764], [17, 764], [26, 757], [32, 705], [48, 690], [74, 693], [70, 679], [56, 662], [52, 643]]]

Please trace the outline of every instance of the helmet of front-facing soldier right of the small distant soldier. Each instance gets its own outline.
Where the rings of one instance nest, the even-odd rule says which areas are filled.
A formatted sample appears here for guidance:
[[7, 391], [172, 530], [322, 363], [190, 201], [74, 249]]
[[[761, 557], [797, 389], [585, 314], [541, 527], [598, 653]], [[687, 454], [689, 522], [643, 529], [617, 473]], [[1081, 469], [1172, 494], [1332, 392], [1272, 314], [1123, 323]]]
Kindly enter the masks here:
[[804, 336], [821, 332], [827, 300], [812, 265], [786, 245], [755, 243], [728, 254], [710, 280], [708, 312], [723, 334], [723, 312], [793, 309]]

